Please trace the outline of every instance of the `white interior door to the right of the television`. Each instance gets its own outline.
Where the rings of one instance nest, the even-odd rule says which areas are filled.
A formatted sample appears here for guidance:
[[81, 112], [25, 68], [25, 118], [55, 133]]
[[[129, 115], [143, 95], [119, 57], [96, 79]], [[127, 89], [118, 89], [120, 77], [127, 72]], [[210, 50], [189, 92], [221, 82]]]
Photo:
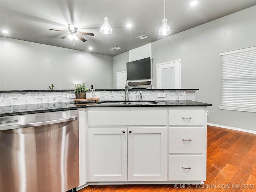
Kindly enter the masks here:
[[156, 64], [156, 88], [180, 89], [181, 60]]

